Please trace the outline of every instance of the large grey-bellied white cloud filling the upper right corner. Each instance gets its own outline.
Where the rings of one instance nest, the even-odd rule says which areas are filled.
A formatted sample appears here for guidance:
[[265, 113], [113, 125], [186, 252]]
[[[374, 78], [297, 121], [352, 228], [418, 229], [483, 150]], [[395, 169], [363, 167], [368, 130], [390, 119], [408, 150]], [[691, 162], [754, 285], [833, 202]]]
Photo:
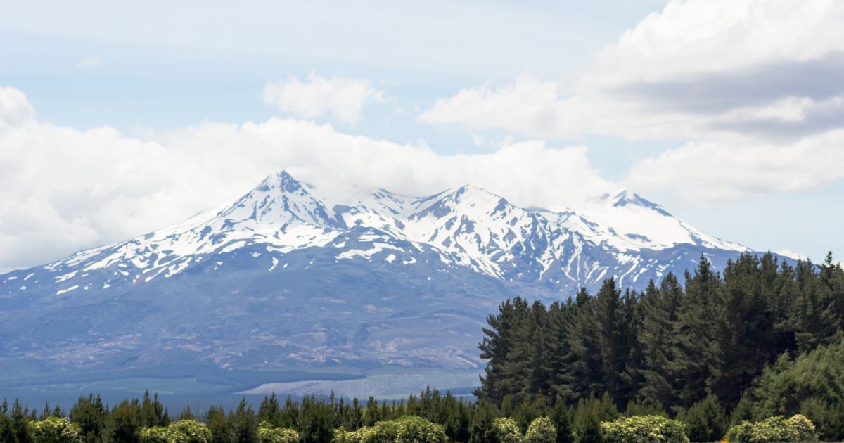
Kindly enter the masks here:
[[463, 89], [419, 121], [533, 137], [797, 139], [844, 127], [844, 3], [674, 0], [572, 82]]

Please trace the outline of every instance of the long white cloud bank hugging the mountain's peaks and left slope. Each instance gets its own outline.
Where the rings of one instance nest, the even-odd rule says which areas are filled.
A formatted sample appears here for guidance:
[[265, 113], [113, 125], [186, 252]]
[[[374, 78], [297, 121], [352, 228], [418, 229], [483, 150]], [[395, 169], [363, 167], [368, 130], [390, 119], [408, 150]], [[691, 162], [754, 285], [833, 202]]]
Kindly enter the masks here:
[[540, 141], [444, 156], [424, 143], [279, 118], [203, 122], [140, 139], [39, 122], [17, 89], [0, 89], [0, 104], [0, 122], [11, 122], [0, 131], [0, 269], [176, 223], [281, 169], [334, 200], [370, 187], [425, 195], [473, 184], [513, 203], [560, 208], [615, 187], [592, 170], [587, 149]]

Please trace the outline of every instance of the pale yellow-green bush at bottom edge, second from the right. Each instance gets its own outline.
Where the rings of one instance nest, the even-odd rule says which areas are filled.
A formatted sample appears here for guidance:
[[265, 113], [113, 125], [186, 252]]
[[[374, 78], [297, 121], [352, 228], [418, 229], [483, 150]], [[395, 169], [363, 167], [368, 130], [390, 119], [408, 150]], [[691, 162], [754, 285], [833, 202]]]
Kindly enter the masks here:
[[607, 443], [688, 442], [684, 424], [658, 415], [628, 417], [603, 422], [603, 438]]

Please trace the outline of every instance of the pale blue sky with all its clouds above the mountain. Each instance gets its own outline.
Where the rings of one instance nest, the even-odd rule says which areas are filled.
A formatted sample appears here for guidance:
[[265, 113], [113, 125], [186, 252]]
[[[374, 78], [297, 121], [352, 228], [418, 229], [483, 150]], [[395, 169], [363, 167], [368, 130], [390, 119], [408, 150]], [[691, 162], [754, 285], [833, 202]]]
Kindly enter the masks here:
[[844, 251], [842, 18], [821, 0], [5, 4], [0, 270], [280, 168], [548, 207], [626, 187], [820, 260]]

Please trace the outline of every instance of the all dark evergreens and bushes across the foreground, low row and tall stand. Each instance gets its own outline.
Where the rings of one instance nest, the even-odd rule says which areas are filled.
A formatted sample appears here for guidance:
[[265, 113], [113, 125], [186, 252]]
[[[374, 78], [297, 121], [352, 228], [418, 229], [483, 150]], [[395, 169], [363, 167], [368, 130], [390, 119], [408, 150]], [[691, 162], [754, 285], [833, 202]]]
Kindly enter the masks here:
[[[0, 441], [587, 443], [657, 424], [712, 441], [798, 413], [820, 438], [844, 439], [844, 271], [831, 254], [793, 266], [747, 254], [720, 272], [701, 257], [684, 284], [669, 273], [638, 292], [608, 279], [547, 306], [506, 300], [488, 323], [477, 399], [273, 395], [174, 416], [149, 394], [80, 397], [68, 411], [3, 401]], [[771, 420], [760, 429], [804, 419]]]

